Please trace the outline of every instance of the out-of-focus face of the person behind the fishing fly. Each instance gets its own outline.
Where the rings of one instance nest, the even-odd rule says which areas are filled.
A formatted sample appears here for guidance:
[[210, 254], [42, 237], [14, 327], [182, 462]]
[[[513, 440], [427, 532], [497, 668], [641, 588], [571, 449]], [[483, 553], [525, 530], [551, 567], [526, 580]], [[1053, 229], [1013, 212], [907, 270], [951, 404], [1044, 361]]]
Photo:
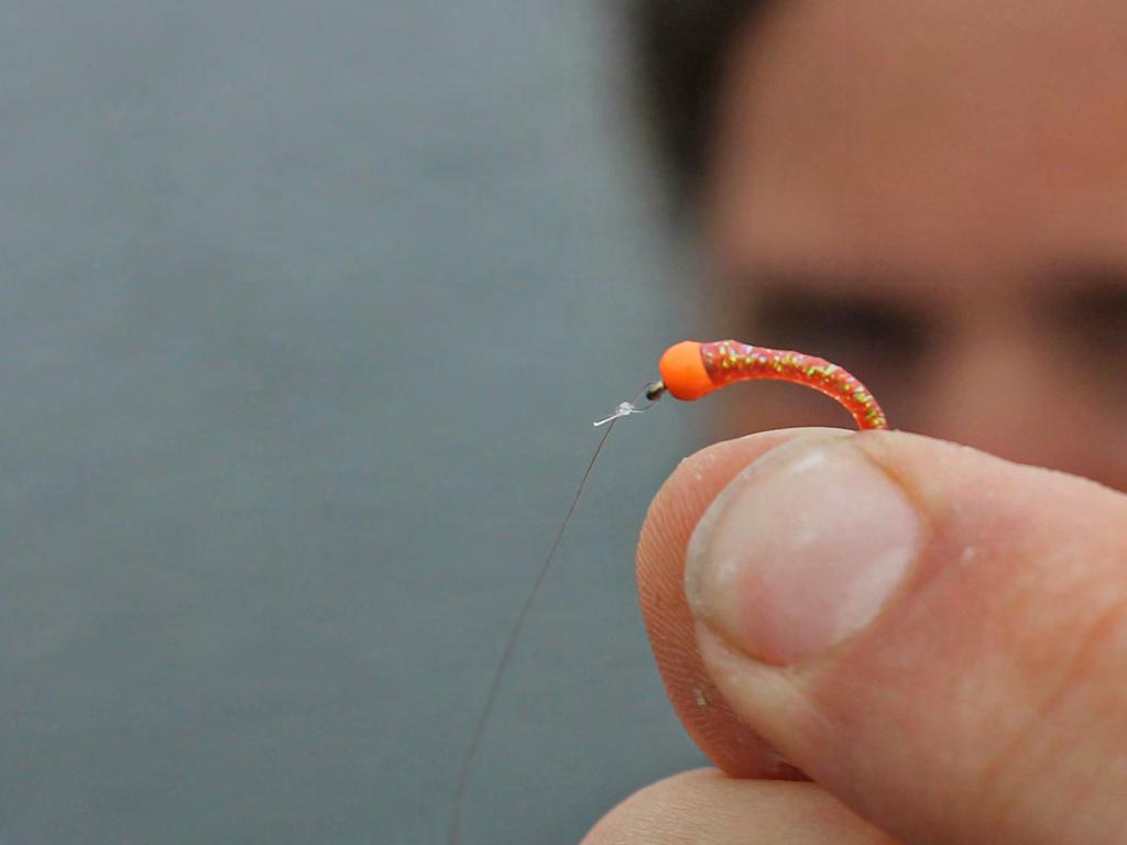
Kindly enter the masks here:
[[[781, 0], [728, 66], [717, 336], [822, 355], [893, 425], [1127, 489], [1127, 3]], [[846, 425], [729, 391], [725, 433]]]

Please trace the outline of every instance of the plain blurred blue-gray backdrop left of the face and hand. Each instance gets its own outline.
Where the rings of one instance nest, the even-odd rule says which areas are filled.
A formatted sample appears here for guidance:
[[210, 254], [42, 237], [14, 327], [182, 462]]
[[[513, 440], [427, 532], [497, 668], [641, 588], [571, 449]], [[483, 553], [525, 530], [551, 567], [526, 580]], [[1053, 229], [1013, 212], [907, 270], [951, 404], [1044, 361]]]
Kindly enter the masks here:
[[[0, 0], [0, 843], [440, 843], [691, 335], [595, 0]], [[696, 765], [620, 425], [470, 843]]]

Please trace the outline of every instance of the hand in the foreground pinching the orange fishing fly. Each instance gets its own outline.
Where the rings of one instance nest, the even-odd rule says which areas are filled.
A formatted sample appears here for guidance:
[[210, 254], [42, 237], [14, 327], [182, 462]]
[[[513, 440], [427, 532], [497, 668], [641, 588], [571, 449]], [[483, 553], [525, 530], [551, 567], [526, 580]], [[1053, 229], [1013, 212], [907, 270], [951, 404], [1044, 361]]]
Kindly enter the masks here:
[[[1124, 495], [903, 433], [771, 432], [677, 468], [638, 581], [729, 776], [642, 790], [583, 845], [1127, 842]], [[813, 783], [764, 780], [783, 758]]]

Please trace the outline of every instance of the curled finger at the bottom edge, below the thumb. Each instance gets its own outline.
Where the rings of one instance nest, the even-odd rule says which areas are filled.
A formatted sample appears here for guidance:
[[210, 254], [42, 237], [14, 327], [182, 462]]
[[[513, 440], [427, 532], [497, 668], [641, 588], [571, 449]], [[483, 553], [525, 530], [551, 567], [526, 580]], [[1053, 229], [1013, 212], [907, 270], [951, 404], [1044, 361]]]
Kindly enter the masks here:
[[636, 792], [580, 845], [889, 845], [813, 783], [685, 772]]

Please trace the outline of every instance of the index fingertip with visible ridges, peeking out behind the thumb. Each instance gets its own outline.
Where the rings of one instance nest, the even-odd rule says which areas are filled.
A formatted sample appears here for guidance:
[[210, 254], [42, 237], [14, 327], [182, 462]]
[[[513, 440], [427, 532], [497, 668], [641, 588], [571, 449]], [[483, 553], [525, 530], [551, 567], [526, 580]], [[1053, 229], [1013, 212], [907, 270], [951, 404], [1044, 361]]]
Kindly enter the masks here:
[[689, 736], [736, 777], [801, 779], [728, 706], [701, 662], [685, 602], [689, 537], [701, 515], [747, 464], [797, 437], [842, 437], [834, 428], [793, 428], [717, 443], [686, 457], [654, 498], [638, 543], [638, 595], [669, 702]]

